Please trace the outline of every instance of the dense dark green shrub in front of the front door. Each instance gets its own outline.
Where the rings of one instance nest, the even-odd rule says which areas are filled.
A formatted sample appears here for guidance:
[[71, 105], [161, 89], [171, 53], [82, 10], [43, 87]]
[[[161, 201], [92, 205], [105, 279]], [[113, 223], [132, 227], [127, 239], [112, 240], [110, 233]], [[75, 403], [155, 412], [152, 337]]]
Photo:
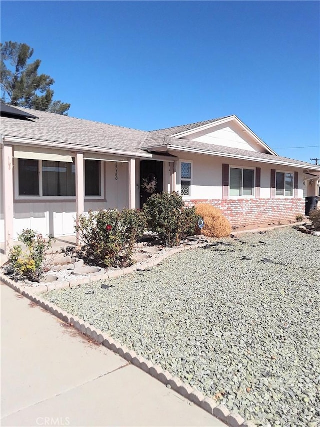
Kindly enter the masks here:
[[182, 197], [176, 192], [152, 194], [142, 209], [148, 227], [165, 246], [176, 246], [182, 236], [194, 234], [198, 216], [194, 207], [184, 208]]

